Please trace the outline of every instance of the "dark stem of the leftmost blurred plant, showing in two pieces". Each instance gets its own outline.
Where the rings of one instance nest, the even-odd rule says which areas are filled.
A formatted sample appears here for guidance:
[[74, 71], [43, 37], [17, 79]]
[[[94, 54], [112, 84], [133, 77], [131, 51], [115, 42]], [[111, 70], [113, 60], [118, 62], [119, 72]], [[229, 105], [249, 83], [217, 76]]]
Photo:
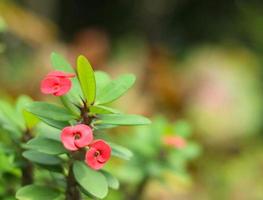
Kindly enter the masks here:
[[[27, 129], [22, 137], [22, 142], [25, 143], [29, 141], [32, 138], [31, 131]], [[34, 167], [31, 162], [29, 162], [27, 159], [23, 158], [24, 165], [22, 166], [22, 179], [21, 179], [21, 185], [29, 185], [33, 183], [34, 180]]]

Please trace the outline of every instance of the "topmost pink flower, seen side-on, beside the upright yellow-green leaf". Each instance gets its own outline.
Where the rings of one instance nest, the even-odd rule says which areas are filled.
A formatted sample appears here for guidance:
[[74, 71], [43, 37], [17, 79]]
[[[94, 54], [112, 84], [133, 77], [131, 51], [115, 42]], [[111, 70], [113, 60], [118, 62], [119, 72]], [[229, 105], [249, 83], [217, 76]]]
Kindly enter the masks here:
[[55, 96], [61, 96], [66, 94], [71, 88], [70, 78], [73, 78], [75, 74], [65, 73], [61, 71], [50, 72], [41, 81], [41, 92], [44, 94], [53, 94]]

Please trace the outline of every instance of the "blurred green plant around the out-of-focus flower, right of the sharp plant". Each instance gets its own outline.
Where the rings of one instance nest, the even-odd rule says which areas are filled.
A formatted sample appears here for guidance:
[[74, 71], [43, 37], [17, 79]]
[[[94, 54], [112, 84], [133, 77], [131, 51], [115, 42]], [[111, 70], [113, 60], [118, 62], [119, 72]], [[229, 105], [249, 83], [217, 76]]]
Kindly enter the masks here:
[[[171, 188], [179, 185], [188, 188], [191, 185], [189, 162], [201, 152], [200, 146], [189, 140], [191, 134], [192, 128], [186, 121], [170, 123], [159, 116], [153, 119], [151, 126], [138, 127], [135, 133], [118, 135], [116, 139], [126, 143], [134, 154], [129, 162], [109, 166], [124, 185], [123, 195], [128, 199], [140, 199], [152, 181]], [[167, 137], [179, 137], [185, 143], [183, 146], [169, 145]]]

